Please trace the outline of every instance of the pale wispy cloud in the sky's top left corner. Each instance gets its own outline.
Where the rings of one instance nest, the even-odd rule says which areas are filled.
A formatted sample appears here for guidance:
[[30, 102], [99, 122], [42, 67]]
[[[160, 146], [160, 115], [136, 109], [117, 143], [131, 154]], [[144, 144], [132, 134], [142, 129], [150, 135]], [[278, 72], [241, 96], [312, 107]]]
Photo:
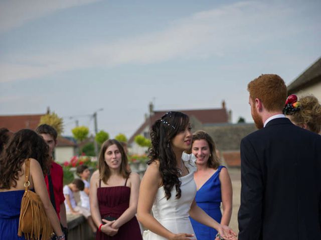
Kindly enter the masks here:
[[1, 0], [0, 33], [54, 11], [98, 0]]

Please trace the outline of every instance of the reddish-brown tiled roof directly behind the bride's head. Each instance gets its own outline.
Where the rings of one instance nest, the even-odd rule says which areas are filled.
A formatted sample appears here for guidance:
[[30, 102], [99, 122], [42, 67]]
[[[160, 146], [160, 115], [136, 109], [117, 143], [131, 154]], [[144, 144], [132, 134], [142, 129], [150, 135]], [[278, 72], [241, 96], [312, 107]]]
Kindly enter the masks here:
[[[128, 143], [132, 143], [134, 137], [138, 135], [146, 126], [149, 126], [157, 119], [161, 118], [167, 111], [154, 111], [154, 114], [151, 117], [148, 117], [143, 124], [135, 131], [135, 133], [129, 138]], [[223, 123], [228, 122], [228, 113], [225, 108], [217, 108], [217, 109], [197, 109], [197, 110], [175, 110], [181, 111], [185, 114], [194, 116], [201, 123]]]

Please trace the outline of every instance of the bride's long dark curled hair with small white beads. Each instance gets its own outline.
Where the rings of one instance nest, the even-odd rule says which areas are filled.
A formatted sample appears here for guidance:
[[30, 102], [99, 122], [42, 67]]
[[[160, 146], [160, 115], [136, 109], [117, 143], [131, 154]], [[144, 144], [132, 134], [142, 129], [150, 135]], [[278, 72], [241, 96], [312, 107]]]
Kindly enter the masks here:
[[150, 128], [151, 146], [149, 147], [147, 164], [155, 160], [159, 161], [159, 172], [161, 173], [166, 198], [171, 197], [171, 190], [175, 186], [176, 198], [181, 197], [180, 172], [177, 168], [176, 155], [172, 147], [172, 139], [184, 131], [190, 118], [180, 111], [169, 111], [158, 119]]

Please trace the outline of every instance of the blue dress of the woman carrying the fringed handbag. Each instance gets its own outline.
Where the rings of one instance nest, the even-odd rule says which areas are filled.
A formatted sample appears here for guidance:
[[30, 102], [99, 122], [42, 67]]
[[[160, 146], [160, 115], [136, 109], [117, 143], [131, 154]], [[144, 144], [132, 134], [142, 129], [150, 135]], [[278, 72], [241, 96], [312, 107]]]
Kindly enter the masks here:
[[20, 207], [25, 190], [0, 192], [0, 239], [25, 240], [18, 236]]

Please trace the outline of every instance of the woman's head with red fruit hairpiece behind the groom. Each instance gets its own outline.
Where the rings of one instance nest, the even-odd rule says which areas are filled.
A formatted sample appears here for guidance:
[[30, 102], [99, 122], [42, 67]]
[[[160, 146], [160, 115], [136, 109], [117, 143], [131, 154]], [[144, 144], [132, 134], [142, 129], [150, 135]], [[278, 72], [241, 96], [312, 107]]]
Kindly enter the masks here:
[[293, 124], [320, 133], [321, 129], [321, 104], [313, 95], [297, 96], [291, 94], [287, 97], [283, 109], [284, 114]]

